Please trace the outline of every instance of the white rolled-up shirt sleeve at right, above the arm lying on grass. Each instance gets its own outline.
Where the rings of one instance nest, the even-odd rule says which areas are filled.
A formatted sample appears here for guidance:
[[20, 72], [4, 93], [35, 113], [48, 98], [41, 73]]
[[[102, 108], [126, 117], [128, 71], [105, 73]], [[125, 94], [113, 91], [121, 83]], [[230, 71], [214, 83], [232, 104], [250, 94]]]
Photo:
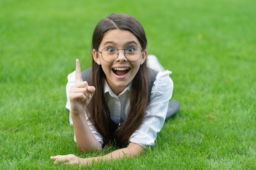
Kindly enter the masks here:
[[152, 87], [149, 106], [141, 126], [131, 135], [129, 141], [146, 146], [154, 146], [157, 133], [162, 129], [173, 94], [170, 71], [159, 72]]

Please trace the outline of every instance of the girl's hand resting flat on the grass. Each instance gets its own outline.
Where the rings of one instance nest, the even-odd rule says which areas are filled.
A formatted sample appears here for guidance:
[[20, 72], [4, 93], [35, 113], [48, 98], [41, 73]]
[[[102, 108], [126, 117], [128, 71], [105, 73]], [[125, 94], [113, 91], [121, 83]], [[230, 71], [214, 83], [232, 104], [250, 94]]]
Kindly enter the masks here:
[[64, 162], [65, 164], [83, 164], [82, 161], [84, 161], [83, 158], [79, 158], [76, 155], [70, 154], [70, 155], [57, 155], [55, 157], [50, 157], [54, 164], [58, 162]]

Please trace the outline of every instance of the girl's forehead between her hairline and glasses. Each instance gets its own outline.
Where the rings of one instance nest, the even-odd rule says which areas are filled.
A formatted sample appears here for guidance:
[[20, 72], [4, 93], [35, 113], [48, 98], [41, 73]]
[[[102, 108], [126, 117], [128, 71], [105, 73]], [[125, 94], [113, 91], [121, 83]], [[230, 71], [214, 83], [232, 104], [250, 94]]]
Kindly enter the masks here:
[[127, 30], [113, 29], [106, 32], [102, 38], [101, 46], [106, 45], [116, 45], [116, 46], [124, 46], [124, 45], [139, 45], [139, 40], [135, 37], [133, 33]]

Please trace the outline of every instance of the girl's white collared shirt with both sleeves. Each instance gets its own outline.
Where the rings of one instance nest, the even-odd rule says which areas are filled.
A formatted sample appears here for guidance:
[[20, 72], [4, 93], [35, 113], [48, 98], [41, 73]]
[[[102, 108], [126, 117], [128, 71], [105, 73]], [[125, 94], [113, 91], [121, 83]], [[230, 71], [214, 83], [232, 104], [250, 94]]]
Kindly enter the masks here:
[[[168, 102], [173, 93], [173, 81], [169, 77], [171, 71], [159, 72], [156, 76], [152, 87], [150, 103], [146, 108], [146, 115], [139, 128], [131, 135], [129, 142], [139, 144], [146, 148], [146, 146], [153, 146], [157, 133], [162, 129], [168, 109]], [[70, 110], [70, 87], [75, 83], [75, 71], [67, 76], [68, 82], [66, 86], [67, 104], [66, 108]], [[110, 109], [110, 118], [118, 123], [126, 120], [130, 106], [130, 84], [118, 96], [115, 95], [108, 83], [105, 83], [105, 97]], [[85, 114], [86, 115], [86, 114]], [[90, 130], [99, 141], [101, 147], [103, 146], [103, 137], [97, 132], [92, 122], [86, 116]], [[73, 125], [71, 115], [70, 124]], [[74, 141], [76, 137], [74, 136]]]

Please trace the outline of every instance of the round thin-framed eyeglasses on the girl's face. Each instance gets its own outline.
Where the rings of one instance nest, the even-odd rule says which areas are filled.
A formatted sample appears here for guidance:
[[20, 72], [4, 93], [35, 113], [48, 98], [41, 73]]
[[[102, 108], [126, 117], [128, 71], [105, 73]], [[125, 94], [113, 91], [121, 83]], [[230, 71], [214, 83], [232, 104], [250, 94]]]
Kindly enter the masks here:
[[124, 50], [124, 56], [130, 62], [136, 62], [141, 57], [142, 50], [138, 46], [128, 46], [126, 49], [117, 49], [114, 46], [107, 46], [101, 50], [101, 57], [105, 62], [114, 62], [117, 60], [119, 51]]

